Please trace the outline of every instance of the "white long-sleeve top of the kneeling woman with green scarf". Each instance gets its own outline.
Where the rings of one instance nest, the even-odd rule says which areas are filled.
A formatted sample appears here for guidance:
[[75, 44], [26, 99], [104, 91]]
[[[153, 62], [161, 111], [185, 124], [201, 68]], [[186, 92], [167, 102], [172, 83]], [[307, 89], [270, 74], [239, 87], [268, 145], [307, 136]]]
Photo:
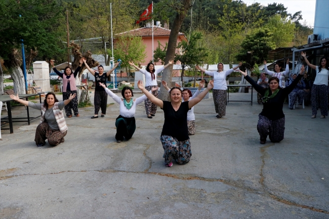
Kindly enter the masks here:
[[[137, 98], [134, 101], [133, 106], [130, 109], [127, 109], [127, 107], [124, 104], [124, 100], [121, 100], [120, 97], [118, 97], [117, 95], [115, 95], [113, 92], [111, 92], [110, 90], [108, 90], [108, 88], [105, 89], [106, 93], [108, 94], [108, 96], [110, 96], [111, 98], [113, 98], [113, 100], [120, 104], [120, 115], [127, 117], [127, 118], [131, 118], [135, 116], [135, 112], [136, 112], [136, 106], [140, 103], [142, 103], [144, 100], [147, 99], [147, 97], [145, 95], [143, 95], [142, 97]], [[151, 93], [151, 91], [150, 91]], [[133, 101], [133, 99], [131, 99], [130, 101]]]

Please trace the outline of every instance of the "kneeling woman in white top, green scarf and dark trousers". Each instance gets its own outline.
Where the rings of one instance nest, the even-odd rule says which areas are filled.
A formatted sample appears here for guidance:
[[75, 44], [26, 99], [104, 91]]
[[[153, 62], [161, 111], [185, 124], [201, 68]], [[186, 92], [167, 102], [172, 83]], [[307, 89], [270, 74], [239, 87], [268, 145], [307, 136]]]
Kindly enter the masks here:
[[[122, 89], [121, 95], [122, 98], [116, 96], [113, 92], [111, 92], [104, 83], [99, 83], [105, 89], [105, 92], [113, 98], [113, 100], [120, 104], [120, 115], [115, 120], [116, 126], [116, 135], [115, 139], [117, 143], [122, 142], [124, 137], [126, 140], [129, 140], [133, 137], [135, 130], [136, 130], [136, 123], [135, 123], [135, 112], [136, 106], [146, 100], [146, 96], [143, 95], [137, 99], [133, 99], [134, 97], [133, 90], [129, 86], [125, 86]], [[151, 92], [157, 90], [157, 87], [152, 89]]]

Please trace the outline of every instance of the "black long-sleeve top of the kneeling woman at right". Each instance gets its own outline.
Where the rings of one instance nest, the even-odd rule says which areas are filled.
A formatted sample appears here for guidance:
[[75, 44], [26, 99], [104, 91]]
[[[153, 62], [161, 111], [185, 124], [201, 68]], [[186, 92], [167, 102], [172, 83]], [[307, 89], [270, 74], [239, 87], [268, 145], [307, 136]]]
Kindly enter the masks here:
[[[280, 89], [276, 96], [272, 99], [269, 99], [266, 103], [263, 103], [263, 110], [261, 112], [262, 116], [267, 117], [270, 120], [277, 120], [284, 117], [283, 114], [283, 102], [286, 96], [288, 96], [298, 83], [298, 81], [302, 78], [303, 75], [298, 74], [297, 78], [290, 84], [283, 89]], [[265, 95], [264, 87], [258, 85], [250, 76], [245, 76], [245, 79], [255, 88], [255, 90], [260, 93], [261, 95]], [[269, 89], [269, 88], [268, 88]], [[270, 90], [269, 96], [272, 95]]]

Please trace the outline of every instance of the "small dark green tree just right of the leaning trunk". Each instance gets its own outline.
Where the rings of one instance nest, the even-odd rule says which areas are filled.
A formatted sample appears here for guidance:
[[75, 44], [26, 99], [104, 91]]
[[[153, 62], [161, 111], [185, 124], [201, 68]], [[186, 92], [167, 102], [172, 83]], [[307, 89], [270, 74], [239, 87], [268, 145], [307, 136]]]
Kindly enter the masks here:
[[179, 52], [175, 56], [175, 61], [180, 61], [182, 66], [181, 80], [184, 82], [185, 67], [195, 66], [203, 62], [208, 53], [204, 47], [198, 45], [198, 40], [202, 38], [200, 32], [192, 32], [189, 41], [181, 41], [178, 43]]

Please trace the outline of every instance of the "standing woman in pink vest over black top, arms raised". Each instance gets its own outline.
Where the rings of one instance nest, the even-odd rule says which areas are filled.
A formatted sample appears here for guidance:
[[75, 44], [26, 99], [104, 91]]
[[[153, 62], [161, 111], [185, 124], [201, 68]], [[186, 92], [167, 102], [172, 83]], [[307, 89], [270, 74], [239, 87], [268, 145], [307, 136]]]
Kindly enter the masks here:
[[76, 84], [75, 84], [75, 78], [77, 73], [79, 73], [79, 70], [83, 64], [83, 60], [80, 59], [79, 61], [79, 66], [75, 69], [74, 73], [73, 73], [73, 77], [72, 76], [72, 69], [70, 67], [66, 67], [64, 70], [64, 74], [59, 72], [55, 66], [54, 66], [54, 61], [50, 60], [50, 64], [53, 67], [54, 71], [56, 72], [56, 74], [58, 76], [60, 76], [61, 78], [63, 78], [63, 101], [67, 100], [70, 95], [74, 95], [75, 94], [75, 98], [67, 105], [65, 105], [65, 114], [67, 117], [71, 118], [72, 117], [72, 109], [73, 109], [73, 113], [76, 117], [79, 117], [79, 112], [77, 110], [77, 96], [76, 96]]

